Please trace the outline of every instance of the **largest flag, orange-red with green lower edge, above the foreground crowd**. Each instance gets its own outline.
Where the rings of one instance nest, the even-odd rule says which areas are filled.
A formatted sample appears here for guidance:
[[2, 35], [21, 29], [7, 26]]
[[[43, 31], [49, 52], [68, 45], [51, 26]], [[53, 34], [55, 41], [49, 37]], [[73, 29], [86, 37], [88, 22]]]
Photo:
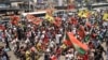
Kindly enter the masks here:
[[79, 40], [77, 40], [75, 36], [73, 36], [73, 33], [72, 32], [67, 32], [69, 39], [70, 39], [70, 42], [72, 43], [73, 47], [76, 48], [76, 50], [79, 51], [79, 54], [85, 54], [85, 51], [89, 50], [89, 47], [87, 45], [81, 43]]

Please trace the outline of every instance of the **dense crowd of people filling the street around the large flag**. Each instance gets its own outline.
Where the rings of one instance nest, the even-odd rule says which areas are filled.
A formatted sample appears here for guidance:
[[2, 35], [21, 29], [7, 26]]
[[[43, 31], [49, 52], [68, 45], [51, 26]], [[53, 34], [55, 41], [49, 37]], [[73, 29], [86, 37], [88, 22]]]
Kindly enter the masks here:
[[[60, 57], [65, 60], [104, 60], [103, 52], [108, 60], [108, 21], [103, 19], [105, 12], [96, 11], [97, 14], [89, 18], [80, 17], [78, 13], [54, 16], [62, 21], [59, 26], [43, 18], [39, 25], [26, 18], [21, 19], [17, 26], [11, 24], [0, 30], [0, 42], [5, 43], [0, 47], [0, 60], [10, 60], [10, 50], [19, 60], [38, 60], [41, 56], [44, 56], [43, 60], [63, 60]], [[87, 45], [89, 50], [81, 55], [72, 44], [65, 44], [66, 32], [72, 32]], [[103, 43], [106, 43], [107, 49], [102, 46]]]

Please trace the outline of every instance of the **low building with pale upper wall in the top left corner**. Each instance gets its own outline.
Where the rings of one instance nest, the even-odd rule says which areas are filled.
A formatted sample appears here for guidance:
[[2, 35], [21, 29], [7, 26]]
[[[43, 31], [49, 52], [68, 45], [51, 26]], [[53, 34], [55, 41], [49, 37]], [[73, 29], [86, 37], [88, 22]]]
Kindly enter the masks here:
[[31, 0], [0, 0], [0, 15], [19, 14], [31, 11]]

